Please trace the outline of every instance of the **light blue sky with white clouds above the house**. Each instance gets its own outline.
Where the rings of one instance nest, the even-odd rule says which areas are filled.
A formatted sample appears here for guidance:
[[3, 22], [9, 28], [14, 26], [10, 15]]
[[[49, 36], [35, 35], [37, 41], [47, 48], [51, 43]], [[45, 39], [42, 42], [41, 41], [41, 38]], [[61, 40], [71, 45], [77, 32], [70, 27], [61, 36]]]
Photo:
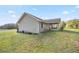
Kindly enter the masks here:
[[16, 23], [21, 15], [30, 13], [41, 19], [79, 19], [78, 5], [0, 5], [0, 25]]

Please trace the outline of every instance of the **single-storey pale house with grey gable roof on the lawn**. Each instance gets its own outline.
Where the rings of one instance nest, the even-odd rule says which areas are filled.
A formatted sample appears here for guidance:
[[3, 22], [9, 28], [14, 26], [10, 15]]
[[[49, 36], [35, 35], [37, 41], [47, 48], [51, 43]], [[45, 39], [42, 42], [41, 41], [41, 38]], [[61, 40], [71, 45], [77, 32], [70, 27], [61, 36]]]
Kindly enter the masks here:
[[17, 22], [17, 31], [24, 33], [40, 33], [52, 29], [58, 29], [60, 21], [60, 18], [42, 20], [34, 15], [24, 12]]

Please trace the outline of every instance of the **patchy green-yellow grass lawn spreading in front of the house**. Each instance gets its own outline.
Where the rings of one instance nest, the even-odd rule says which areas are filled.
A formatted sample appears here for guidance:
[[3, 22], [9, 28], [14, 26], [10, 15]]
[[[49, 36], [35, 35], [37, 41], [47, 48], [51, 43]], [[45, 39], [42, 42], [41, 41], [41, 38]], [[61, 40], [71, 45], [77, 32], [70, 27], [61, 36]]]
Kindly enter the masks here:
[[0, 52], [79, 52], [79, 33], [49, 31], [30, 35], [1, 31]]

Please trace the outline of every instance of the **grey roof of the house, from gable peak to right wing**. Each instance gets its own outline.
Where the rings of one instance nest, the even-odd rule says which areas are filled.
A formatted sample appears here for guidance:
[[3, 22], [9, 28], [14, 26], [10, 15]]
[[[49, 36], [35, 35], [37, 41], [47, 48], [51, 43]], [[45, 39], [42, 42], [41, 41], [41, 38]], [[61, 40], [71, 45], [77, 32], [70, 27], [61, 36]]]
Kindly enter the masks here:
[[29, 15], [29, 16], [33, 17], [36, 21], [38, 21], [38, 22], [43, 22], [43, 23], [59, 23], [59, 22], [61, 21], [60, 18], [43, 20], [43, 19], [38, 18], [38, 17], [36, 17], [36, 16], [34, 16], [34, 15], [31, 15], [31, 14], [29, 14], [29, 13], [25, 13], [25, 12], [24, 12], [17, 23], [20, 23], [20, 21], [21, 21], [26, 15]]

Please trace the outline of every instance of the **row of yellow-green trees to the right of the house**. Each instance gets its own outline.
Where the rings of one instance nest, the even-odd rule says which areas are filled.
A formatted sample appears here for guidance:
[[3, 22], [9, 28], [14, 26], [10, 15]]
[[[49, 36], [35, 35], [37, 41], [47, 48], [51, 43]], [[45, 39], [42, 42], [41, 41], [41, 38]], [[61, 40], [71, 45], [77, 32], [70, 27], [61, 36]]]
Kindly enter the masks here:
[[79, 19], [69, 20], [67, 22], [61, 21], [59, 25], [59, 30], [67, 29], [79, 29]]

